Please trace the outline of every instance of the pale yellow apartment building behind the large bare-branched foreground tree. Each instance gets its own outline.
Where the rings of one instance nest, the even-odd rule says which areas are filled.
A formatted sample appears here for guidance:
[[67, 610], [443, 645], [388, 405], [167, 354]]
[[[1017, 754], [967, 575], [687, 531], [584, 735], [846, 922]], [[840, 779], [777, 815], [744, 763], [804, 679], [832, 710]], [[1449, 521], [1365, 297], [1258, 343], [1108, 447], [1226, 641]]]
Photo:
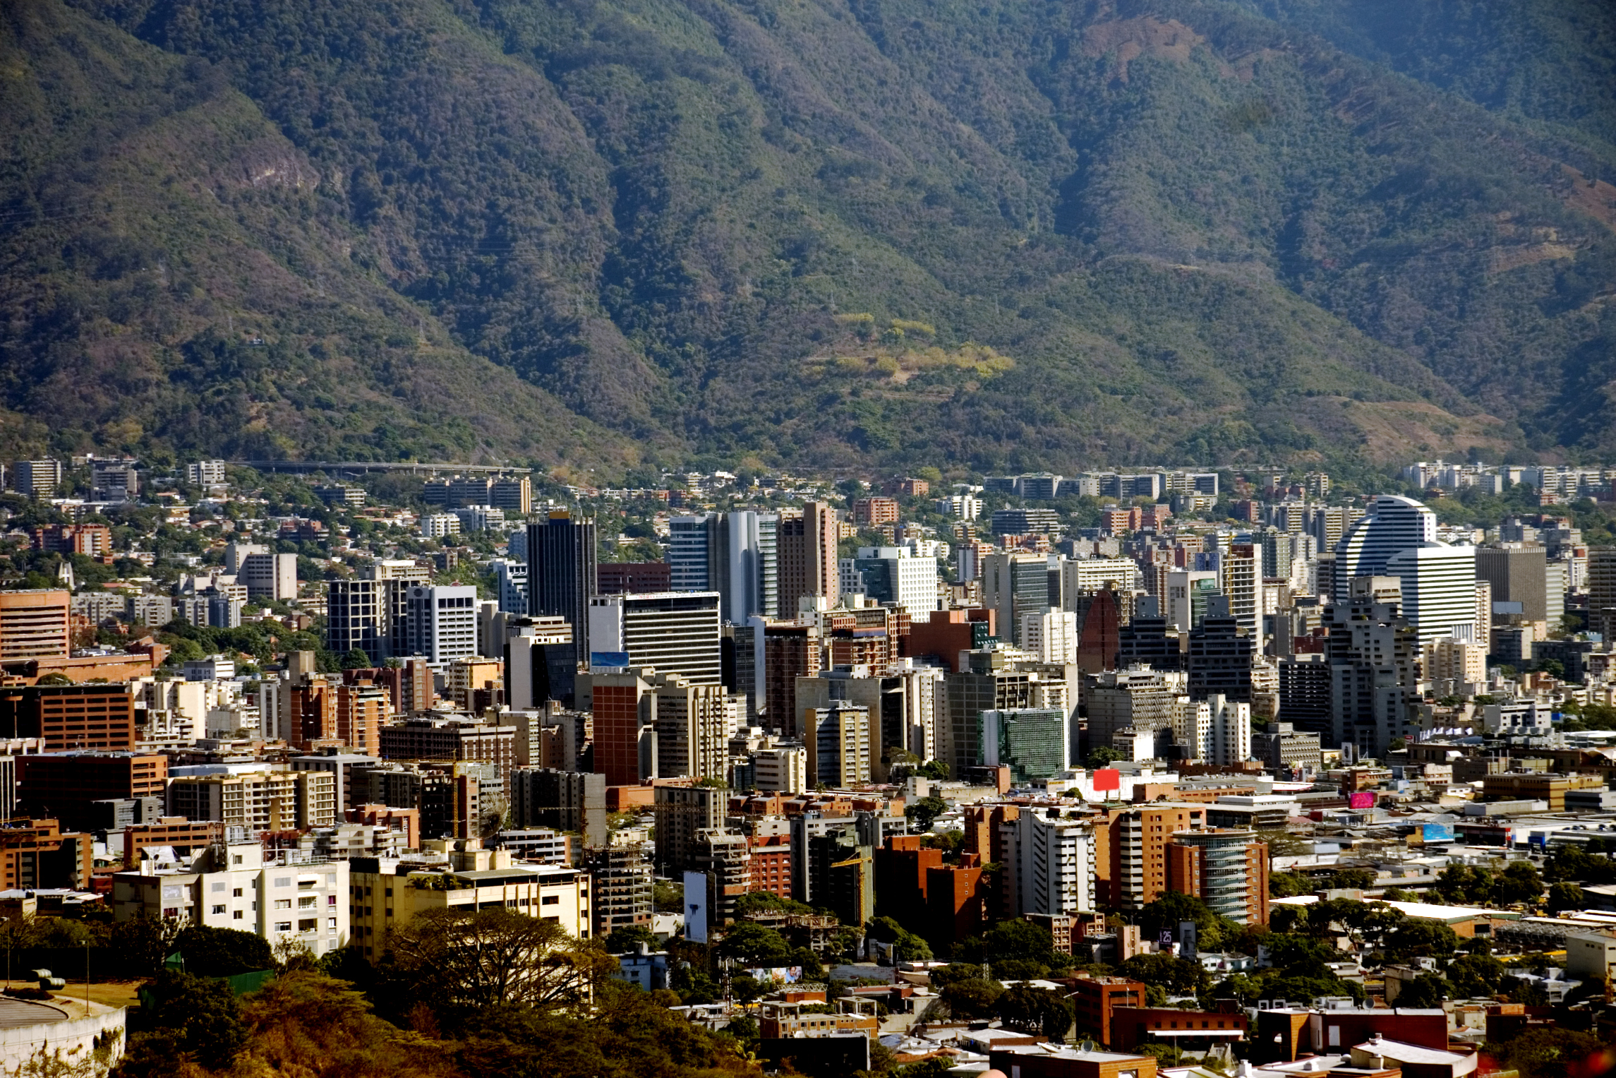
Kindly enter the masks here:
[[562, 865], [517, 865], [509, 850], [483, 850], [477, 839], [428, 840], [430, 860], [351, 858], [349, 923], [354, 945], [370, 960], [386, 950], [389, 929], [428, 910], [504, 907], [554, 921], [567, 936], [590, 937], [590, 876]]

